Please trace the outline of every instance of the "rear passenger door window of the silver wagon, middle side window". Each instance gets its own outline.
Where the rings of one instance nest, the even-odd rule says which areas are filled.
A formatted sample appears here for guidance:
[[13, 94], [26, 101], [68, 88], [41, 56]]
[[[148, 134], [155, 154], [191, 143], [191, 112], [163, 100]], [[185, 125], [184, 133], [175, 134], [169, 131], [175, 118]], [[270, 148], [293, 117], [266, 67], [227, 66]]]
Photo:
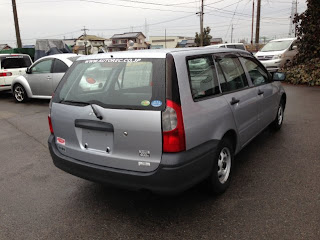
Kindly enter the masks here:
[[235, 91], [249, 86], [246, 75], [238, 58], [223, 57], [217, 59], [217, 61], [222, 92]]

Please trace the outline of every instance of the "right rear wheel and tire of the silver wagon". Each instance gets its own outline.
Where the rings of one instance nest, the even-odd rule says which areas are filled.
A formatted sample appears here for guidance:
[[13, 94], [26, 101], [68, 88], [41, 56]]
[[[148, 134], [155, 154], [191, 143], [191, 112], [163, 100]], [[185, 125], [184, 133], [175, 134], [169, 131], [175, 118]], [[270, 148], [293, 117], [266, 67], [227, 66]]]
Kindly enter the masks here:
[[214, 154], [212, 172], [207, 179], [209, 194], [219, 195], [227, 190], [231, 181], [233, 159], [233, 144], [229, 139], [223, 138]]

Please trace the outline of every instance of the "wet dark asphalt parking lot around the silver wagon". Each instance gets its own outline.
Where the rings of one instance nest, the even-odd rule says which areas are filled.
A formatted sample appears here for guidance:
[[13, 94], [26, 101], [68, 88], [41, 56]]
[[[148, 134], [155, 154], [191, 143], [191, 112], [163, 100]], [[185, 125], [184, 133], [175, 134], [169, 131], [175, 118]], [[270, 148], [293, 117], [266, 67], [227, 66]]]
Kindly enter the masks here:
[[0, 239], [319, 239], [320, 88], [285, 89], [282, 129], [236, 156], [219, 197], [200, 187], [158, 196], [69, 175], [47, 148], [49, 102], [0, 93]]

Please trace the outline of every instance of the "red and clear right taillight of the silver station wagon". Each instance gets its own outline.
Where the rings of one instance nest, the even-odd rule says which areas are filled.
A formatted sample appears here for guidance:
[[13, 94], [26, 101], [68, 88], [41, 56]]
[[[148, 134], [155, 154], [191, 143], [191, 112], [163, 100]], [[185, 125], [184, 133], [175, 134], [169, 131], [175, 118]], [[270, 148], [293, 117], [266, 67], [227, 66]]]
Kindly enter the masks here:
[[163, 152], [181, 152], [186, 150], [181, 106], [167, 100], [167, 107], [162, 112]]

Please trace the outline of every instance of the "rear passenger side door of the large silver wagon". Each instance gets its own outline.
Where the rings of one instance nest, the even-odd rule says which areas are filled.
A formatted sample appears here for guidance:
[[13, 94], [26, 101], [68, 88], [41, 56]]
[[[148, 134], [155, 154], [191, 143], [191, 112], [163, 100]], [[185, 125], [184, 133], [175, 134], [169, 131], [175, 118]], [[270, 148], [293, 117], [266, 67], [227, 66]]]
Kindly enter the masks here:
[[239, 142], [246, 145], [259, 132], [258, 95], [249, 87], [245, 71], [234, 54], [215, 56], [223, 96], [229, 103], [238, 128]]

